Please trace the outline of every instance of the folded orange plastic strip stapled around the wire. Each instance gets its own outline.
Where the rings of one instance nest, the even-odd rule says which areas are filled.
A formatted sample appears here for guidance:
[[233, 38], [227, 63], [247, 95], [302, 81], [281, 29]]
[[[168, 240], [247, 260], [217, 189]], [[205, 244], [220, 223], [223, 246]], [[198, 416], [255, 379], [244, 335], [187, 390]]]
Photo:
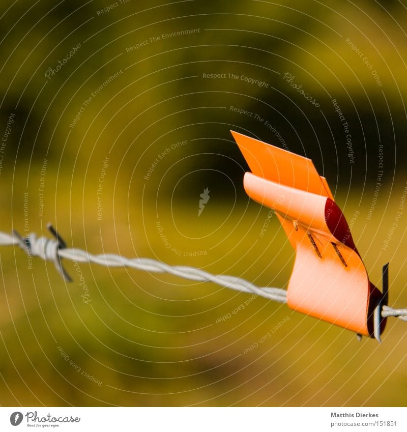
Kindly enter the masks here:
[[[372, 311], [382, 293], [369, 281], [325, 178], [308, 158], [231, 133], [252, 170], [244, 176], [247, 194], [276, 212], [296, 250], [288, 306], [372, 336]], [[385, 320], [381, 331], [384, 326]]]

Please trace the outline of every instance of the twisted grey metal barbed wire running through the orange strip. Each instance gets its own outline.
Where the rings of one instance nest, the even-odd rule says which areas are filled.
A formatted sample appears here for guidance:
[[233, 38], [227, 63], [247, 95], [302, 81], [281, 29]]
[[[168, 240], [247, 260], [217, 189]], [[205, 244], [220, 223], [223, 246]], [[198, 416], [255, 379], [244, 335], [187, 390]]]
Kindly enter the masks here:
[[[169, 273], [183, 279], [198, 282], [213, 282], [232, 290], [256, 294], [278, 303], [287, 302], [286, 290], [268, 286], [256, 286], [237, 276], [214, 275], [194, 267], [170, 266], [151, 258], [127, 258], [111, 253], [93, 255], [81, 249], [70, 249], [66, 247], [66, 243], [51, 224], [48, 224], [47, 227], [54, 236], [54, 239], [37, 237], [34, 233], [27, 234], [23, 238], [16, 231], [13, 231], [13, 234], [0, 232], [0, 246], [18, 245], [32, 257], [38, 256], [44, 261], [53, 262], [55, 268], [68, 282], [71, 282], [72, 279], [62, 266], [62, 258], [77, 263], [94, 263], [106, 267], [129, 267], [146, 272]], [[393, 309], [385, 305], [376, 307], [374, 334], [378, 340], [380, 340], [380, 316], [382, 316], [382, 318], [394, 316], [398, 317], [400, 320], [407, 321], [407, 309]]]

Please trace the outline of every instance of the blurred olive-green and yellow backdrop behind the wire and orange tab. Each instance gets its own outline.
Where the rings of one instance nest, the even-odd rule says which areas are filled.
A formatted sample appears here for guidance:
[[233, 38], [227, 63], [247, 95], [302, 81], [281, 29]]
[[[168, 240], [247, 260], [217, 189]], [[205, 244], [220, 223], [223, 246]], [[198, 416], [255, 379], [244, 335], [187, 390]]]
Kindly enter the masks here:
[[[390, 305], [407, 306], [403, 211], [389, 235], [407, 180], [405, 1], [18, 0], [0, 19], [1, 231], [48, 236], [50, 221], [69, 247], [285, 287], [293, 250], [244, 193], [232, 129], [313, 159], [359, 212], [372, 282], [390, 261]], [[358, 342], [266, 299], [233, 314], [250, 295], [211, 283], [80, 264], [81, 297], [72, 263], [70, 284], [18, 248], [0, 265], [2, 406], [407, 404], [395, 319], [381, 345]]]

